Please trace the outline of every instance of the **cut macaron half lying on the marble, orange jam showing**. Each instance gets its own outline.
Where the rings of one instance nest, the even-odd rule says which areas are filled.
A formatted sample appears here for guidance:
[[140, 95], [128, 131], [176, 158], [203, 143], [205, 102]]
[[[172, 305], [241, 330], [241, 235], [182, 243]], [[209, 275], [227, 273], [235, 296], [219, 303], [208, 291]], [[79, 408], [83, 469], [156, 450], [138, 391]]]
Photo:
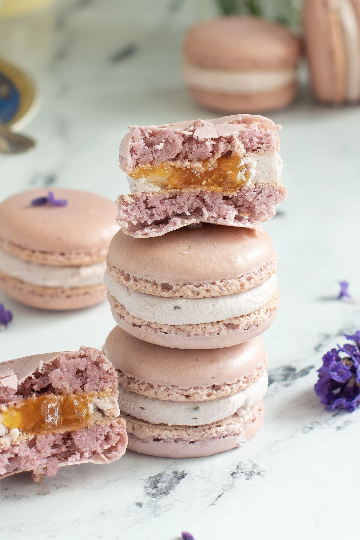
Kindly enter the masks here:
[[0, 364], [0, 478], [111, 463], [127, 446], [117, 375], [97, 349], [25, 356]]

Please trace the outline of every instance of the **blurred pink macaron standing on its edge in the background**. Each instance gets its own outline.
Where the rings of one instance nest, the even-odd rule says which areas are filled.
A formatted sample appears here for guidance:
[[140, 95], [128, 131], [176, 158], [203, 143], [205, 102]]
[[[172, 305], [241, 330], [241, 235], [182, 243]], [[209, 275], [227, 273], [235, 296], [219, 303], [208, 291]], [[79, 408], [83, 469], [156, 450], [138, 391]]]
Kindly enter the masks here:
[[360, 1], [305, 0], [305, 45], [317, 99], [360, 100]]

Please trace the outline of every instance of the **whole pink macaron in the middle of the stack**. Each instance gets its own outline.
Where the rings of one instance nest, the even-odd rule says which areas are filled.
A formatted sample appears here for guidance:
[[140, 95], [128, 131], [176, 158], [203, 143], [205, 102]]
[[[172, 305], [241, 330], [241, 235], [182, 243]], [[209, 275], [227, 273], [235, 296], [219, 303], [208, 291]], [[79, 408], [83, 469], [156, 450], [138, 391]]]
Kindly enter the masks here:
[[128, 334], [180, 349], [230, 347], [261, 334], [279, 305], [277, 255], [263, 230], [204, 224], [111, 241], [105, 283]]

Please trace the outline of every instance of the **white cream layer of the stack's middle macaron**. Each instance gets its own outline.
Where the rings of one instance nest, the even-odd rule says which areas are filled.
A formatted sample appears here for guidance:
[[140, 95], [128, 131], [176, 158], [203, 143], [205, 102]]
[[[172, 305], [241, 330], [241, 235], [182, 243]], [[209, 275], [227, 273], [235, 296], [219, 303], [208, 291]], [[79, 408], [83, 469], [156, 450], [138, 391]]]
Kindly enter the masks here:
[[276, 274], [242, 293], [209, 298], [164, 298], [128, 289], [105, 272], [108, 291], [134, 317], [163, 325], [197, 325], [248, 315], [263, 307], [277, 289]]

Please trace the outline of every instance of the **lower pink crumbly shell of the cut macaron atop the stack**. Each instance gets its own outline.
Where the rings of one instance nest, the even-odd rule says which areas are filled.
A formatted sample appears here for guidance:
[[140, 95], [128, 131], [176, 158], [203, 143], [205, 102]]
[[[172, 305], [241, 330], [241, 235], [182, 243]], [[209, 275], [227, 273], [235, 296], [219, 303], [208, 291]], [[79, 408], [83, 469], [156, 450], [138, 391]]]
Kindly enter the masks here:
[[233, 196], [205, 190], [120, 195], [117, 221], [135, 238], [157, 237], [201, 222], [256, 228], [275, 215], [275, 205], [286, 195], [282, 185], [241, 188]]

